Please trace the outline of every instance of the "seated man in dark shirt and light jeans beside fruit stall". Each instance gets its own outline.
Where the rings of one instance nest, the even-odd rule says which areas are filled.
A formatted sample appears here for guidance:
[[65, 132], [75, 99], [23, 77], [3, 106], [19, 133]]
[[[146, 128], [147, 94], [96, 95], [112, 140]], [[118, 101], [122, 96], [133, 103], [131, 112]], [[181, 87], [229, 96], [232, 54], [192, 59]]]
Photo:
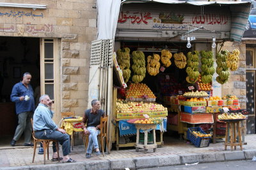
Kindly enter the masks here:
[[88, 159], [91, 157], [93, 146], [96, 150], [96, 155], [100, 155], [97, 136], [100, 133], [100, 117], [104, 117], [104, 115], [105, 112], [100, 110], [100, 102], [96, 99], [92, 101], [92, 109], [84, 111], [82, 126], [84, 134], [89, 135], [89, 142], [86, 150], [86, 158]]

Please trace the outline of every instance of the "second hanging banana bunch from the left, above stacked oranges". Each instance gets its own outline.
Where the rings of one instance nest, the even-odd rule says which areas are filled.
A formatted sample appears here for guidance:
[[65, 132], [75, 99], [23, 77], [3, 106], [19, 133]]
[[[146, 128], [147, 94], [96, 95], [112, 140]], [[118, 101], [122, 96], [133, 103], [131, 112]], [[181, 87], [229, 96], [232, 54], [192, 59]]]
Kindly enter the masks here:
[[134, 83], [140, 83], [146, 76], [146, 67], [145, 67], [145, 55], [141, 51], [132, 52], [132, 70], [133, 76], [132, 81]]

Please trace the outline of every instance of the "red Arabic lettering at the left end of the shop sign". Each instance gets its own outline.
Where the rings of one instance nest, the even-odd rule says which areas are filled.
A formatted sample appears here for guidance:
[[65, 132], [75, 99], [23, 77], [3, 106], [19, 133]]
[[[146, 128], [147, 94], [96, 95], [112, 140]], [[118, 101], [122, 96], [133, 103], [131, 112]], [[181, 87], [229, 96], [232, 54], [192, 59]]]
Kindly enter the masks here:
[[125, 13], [122, 11], [121, 15], [118, 18], [118, 23], [125, 23], [127, 20], [131, 20], [131, 24], [137, 23], [141, 24], [143, 22], [144, 24], [148, 24], [147, 20], [152, 19], [150, 16], [151, 13], [149, 12], [134, 12], [132, 15], [129, 15], [129, 11], [126, 11]]

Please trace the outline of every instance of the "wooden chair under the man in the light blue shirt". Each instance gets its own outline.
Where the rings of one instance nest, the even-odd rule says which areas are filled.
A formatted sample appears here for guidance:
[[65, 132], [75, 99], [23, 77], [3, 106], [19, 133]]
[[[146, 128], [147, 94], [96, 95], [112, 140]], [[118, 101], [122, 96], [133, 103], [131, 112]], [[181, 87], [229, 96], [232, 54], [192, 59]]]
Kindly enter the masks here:
[[[32, 124], [32, 129], [33, 129], [33, 118], [31, 118], [31, 124]], [[45, 153], [46, 153], [46, 150], [47, 150], [47, 160], [49, 160], [49, 145], [50, 145], [50, 142], [55, 142], [56, 143], [58, 158], [60, 158], [59, 143], [58, 143], [58, 141], [52, 140], [52, 139], [38, 139], [38, 138], [35, 137], [34, 129], [33, 129], [33, 132], [32, 132], [32, 136], [33, 136], [33, 139], [34, 139], [34, 153], [33, 153], [32, 163], [34, 163], [34, 160], [35, 160], [36, 144], [38, 142], [43, 144], [43, 148], [44, 148], [44, 164], [45, 164]], [[60, 162], [60, 159], [58, 159], [58, 161]]]

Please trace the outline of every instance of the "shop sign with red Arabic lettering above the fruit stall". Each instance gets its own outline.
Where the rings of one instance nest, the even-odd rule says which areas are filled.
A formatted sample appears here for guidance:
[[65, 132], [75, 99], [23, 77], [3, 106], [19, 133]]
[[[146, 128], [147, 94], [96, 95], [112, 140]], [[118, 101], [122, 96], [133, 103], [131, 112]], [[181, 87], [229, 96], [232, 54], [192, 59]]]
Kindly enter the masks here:
[[[188, 7], [188, 8], [186, 8]], [[193, 8], [191, 8], [193, 7]], [[134, 10], [136, 9], [136, 10]], [[118, 29], [188, 30], [189, 24], [204, 26], [212, 31], [230, 31], [231, 15], [229, 8], [164, 4], [155, 8], [143, 4], [124, 5], [118, 17]], [[190, 26], [191, 28], [191, 26]]]

